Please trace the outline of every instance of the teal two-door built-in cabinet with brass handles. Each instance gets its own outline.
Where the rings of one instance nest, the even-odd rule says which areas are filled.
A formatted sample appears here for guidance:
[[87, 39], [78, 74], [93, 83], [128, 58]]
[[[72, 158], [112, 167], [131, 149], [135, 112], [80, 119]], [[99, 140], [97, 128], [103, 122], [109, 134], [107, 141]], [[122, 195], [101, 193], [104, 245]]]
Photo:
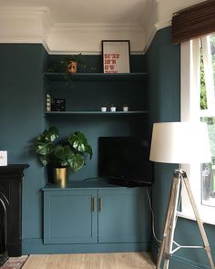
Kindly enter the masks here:
[[81, 185], [44, 189], [45, 244], [150, 241], [146, 188]]

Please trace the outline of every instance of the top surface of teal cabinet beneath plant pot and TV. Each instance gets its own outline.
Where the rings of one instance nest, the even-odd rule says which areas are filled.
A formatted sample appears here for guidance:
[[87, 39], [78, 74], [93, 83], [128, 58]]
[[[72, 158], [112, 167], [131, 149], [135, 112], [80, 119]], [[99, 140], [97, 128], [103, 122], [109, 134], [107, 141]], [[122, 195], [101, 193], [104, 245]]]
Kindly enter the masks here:
[[59, 185], [47, 183], [42, 189], [43, 191], [68, 191], [74, 189], [128, 189], [129, 187], [112, 184], [105, 180], [89, 180], [89, 181], [70, 181], [66, 187], [60, 187]]

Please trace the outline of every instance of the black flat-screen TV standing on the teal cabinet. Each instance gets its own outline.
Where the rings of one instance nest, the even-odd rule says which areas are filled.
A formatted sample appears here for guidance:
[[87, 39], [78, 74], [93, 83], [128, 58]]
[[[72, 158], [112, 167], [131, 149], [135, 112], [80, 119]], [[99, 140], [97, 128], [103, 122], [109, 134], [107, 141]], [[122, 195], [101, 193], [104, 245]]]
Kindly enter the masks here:
[[151, 185], [148, 141], [134, 137], [98, 138], [98, 174], [116, 184]]

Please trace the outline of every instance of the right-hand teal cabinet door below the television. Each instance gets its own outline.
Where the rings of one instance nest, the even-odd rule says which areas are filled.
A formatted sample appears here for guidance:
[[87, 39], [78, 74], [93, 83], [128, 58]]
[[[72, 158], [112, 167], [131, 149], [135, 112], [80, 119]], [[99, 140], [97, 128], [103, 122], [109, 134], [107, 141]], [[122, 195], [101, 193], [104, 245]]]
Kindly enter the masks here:
[[145, 188], [98, 191], [98, 243], [150, 240], [150, 213]]

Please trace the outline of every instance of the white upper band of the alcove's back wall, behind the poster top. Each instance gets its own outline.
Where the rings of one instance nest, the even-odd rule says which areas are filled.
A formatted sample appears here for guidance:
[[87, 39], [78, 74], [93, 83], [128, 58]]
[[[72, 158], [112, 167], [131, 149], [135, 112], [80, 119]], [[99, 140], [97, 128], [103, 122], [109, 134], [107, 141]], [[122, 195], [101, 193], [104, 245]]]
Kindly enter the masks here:
[[101, 40], [130, 40], [132, 53], [145, 46], [144, 29], [137, 24], [54, 24], [47, 45], [52, 54], [100, 54]]

